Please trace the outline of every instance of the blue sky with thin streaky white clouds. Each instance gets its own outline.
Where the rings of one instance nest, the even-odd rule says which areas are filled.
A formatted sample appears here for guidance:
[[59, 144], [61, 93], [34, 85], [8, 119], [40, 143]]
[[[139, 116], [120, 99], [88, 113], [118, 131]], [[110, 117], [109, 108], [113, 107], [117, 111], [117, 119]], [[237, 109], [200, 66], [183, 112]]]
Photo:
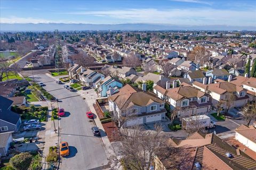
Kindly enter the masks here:
[[0, 23], [256, 25], [256, 0], [5, 1]]

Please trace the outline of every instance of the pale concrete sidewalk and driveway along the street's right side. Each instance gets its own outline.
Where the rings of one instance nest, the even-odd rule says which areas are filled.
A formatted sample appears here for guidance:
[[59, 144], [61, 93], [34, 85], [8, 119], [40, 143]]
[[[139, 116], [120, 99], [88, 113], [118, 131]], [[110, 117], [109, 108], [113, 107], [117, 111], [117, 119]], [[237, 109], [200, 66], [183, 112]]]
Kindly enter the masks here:
[[[97, 99], [98, 97], [97, 97], [97, 94], [94, 91], [94, 89], [78, 90], [77, 93], [80, 94], [83, 98], [85, 98], [85, 101], [86, 101], [87, 106], [89, 107], [90, 111], [95, 114], [96, 111], [93, 107], [93, 104], [95, 103], [95, 99]], [[98, 116], [96, 118], [94, 118], [94, 122], [98, 126], [99, 129], [104, 130]], [[105, 145], [105, 152], [107, 154], [107, 157], [110, 158], [111, 156], [115, 155], [114, 149], [111, 146], [111, 143], [110, 143], [108, 136], [105, 132], [101, 131], [101, 139]], [[117, 169], [116, 167], [114, 167], [114, 168]], [[122, 169], [122, 168], [119, 167], [118, 169]]]

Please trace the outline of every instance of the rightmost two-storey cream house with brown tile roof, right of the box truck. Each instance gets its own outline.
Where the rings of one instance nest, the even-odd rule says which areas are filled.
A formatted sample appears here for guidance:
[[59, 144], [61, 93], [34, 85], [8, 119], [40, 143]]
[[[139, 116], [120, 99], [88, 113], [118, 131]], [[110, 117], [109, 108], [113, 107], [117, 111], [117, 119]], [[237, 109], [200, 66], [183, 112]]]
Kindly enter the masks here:
[[214, 107], [217, 107], [218, 103], [221, 103], [222, 108], [226, 109], [228, 102], [230, 104], [229, 108], [241, 107], [247, 104], [249, 99], [246, 92], [247, 90], [230, 82], [219, 79], [217, 79], [217, 81], [217, 83], [207, 85], [195, 81], [192, 85], [211, 95]]

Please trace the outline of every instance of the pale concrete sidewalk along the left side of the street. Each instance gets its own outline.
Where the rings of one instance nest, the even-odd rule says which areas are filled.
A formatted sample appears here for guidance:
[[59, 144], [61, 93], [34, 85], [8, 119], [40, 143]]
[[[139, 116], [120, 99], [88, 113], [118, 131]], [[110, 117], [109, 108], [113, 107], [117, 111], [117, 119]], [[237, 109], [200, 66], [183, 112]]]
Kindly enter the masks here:
[[[47, 105], [48, 105], [49, 114], [48, 114], [48, 117], [47, 117], [48, 121], [46, 122], [46, 125], [45, 125], [45, 136], [44, 136], [45, 145], [44, 145], [44, 150], [43, 150], [43, 158], [42, 158], [43, 167], [42, 167], [42, 169], [47, 169], [48, 168], [48, 165], [46, 163], [46, 157], [49, 154], [49, 148], [51, 146], [57, 146], [58, 143], [59, 143], [58, 133], [54, 132], [54, 122], [51, 121], [51, 116], [52, 116], [51, 102], [47, 101]], [[58, 108], [57, 103], [52, 103], [52, 106], [55, 107], [55, 108]], [[58, 130], [58, 121], [55, 121], [55, 127]], [[39, 134], [39, 138], [40, 138], [40, 134]]]

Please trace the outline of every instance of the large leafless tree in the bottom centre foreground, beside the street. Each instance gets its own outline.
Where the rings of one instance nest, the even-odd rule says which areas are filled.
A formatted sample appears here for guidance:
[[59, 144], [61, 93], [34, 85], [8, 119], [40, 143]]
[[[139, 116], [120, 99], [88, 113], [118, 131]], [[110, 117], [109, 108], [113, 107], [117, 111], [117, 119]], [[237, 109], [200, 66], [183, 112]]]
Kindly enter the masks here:
[[114, 166], [120, 164], [126, 169], [149, 169], [153, 165], [155, 156], [162, 152], [159, 148], [166, 146], [166, 137], [161, 133], [160, 125], [155, 125], [155, 131], [144, 131], [140, 126], [123, 129], [121, 133], [121, 146], [118, 152], [121, 157], [112, 155]]

